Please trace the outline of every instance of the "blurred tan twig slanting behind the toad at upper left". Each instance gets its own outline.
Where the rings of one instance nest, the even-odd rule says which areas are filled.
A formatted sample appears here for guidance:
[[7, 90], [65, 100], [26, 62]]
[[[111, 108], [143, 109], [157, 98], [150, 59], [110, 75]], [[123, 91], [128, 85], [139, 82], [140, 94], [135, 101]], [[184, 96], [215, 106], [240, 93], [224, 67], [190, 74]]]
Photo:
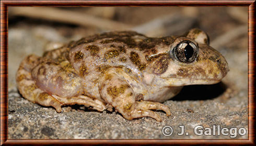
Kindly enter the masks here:
[[97, 18], [88, 14], [53, 7], [15, 7], [10, 9], [9, 15], [91, 26], [102, 30], [125, 30], [131, 28], [130, 25], [109, 19]]

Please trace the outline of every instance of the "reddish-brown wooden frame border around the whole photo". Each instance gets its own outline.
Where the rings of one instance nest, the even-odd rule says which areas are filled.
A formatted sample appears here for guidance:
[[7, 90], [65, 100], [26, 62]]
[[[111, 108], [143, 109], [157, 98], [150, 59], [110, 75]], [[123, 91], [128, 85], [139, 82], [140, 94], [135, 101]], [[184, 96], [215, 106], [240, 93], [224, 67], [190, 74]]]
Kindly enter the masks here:
[[[249, 139], [245, 140], [14, 140], [7, 139], [8, 7], [9, 6], [248, 6]], [[1, 1], [1, 145], [28, 144], [250, 144], [255, 145], [255, 1]]]

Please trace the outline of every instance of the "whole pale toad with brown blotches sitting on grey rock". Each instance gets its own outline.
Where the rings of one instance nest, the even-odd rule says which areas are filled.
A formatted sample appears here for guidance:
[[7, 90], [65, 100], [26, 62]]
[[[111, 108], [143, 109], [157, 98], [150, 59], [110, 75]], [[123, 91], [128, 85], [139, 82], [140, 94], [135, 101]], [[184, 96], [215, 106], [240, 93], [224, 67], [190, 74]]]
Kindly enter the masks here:
[[16, 74], [20, 94], [53, 107], [84, 105], [113, 109], [126, 120], [171, 115], [163, 104], [183, 86], [216, 84], [229, 71], [224, 56], [197, 28], [182, 35], [147, 37], [134, 31], [112, 31], [31, 54]]

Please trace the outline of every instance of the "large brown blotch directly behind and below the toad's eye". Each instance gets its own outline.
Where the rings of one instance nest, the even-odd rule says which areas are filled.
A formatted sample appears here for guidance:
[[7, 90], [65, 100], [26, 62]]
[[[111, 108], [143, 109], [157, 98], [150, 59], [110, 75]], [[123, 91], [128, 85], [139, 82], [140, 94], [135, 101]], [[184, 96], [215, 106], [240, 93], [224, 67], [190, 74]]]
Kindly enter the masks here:
[[157, 75], [163, 74], [168, 69], [169, 56], [161, 56], [153, 63], [153, 72]]

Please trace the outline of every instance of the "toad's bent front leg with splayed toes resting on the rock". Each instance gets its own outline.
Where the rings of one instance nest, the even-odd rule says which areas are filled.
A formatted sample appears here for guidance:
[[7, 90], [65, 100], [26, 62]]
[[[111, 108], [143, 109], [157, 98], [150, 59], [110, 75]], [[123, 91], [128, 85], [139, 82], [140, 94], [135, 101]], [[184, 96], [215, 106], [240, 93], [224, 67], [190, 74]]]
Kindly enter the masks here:
[[171, 115], [169, 108], [164, 104], [136, 101], [132, 88], [121, 75], [123, 73], [125, 72], [121, 69], [112, 68], [101, 76], [99, 84], [100, 95], [107, 103], [111, 104], [127, 120], [152, 117], [160, 122], [160, 116], [151, 110], [162, 110], [166, 112], [167, 116]]

